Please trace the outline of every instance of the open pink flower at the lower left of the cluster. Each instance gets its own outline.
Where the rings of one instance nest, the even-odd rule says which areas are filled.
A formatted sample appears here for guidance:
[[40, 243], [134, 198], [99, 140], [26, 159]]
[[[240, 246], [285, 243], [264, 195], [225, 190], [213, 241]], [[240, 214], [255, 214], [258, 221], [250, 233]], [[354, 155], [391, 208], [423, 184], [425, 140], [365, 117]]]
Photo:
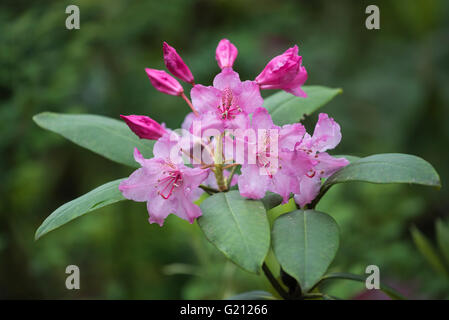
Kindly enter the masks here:
[[134, 158], [142, 167], [122, 181], [119, 190], [127, 199], [147, 202], [150, 223], [162, 226], [170, 213], [193, 223], [201, 216], [193, 201], [202, 193], [198, 186], [209, 170], [187, 167], [180, 158], [173, 157], [167, 136], [156, 142], [154, 158], [144, 159], [135, 149]]

